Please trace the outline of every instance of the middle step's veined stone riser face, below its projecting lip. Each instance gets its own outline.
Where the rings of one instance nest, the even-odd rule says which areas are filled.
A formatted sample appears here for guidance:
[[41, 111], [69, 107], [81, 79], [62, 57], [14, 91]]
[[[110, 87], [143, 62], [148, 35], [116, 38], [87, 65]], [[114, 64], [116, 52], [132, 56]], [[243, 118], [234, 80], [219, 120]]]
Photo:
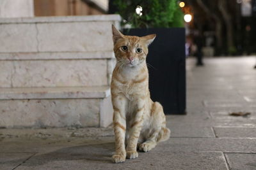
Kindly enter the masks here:
[[0, 65], [0, 87], [108, 85], [107, 60], [0, 60]]

